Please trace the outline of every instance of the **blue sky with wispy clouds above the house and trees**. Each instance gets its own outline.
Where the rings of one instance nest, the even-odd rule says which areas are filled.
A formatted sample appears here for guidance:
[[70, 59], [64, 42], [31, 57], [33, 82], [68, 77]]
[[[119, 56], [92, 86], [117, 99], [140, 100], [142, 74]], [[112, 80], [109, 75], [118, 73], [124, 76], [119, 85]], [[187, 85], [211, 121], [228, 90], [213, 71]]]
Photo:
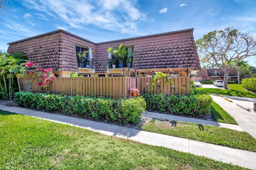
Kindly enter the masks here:
[[[12, 0], [0, 14], [7, 43], [64, 29], [95, 43], [194, 28], [197, 40], [234, 27], [256, 36], [256, 0]], [[256, 58], [248, 58], [256, 66]]]

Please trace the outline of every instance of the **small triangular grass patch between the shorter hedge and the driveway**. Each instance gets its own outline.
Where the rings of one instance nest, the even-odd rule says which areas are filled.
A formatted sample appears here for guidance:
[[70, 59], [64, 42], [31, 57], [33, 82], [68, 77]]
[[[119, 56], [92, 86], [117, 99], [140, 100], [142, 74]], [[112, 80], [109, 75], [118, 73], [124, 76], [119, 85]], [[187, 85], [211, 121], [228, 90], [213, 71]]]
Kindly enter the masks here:
[[232, 116], [230, 116], [222, 107], [220, 107], [220, 105], [216, 104], [213, 101], [211, 103], [211, 111], [214, 115], [214, 121], [238, 125], [238, 123]]

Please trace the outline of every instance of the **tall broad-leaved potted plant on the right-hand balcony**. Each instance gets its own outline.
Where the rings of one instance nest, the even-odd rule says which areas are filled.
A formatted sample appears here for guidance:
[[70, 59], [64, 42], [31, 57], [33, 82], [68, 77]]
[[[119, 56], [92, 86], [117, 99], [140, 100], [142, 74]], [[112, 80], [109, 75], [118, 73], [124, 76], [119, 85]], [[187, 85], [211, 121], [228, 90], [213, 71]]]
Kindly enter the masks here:
[[124, 67], [124, 58], [127, 57], [127, 50], [123, 44], [120, 44], [119, 47], [113, 49], [112, 47], [108, 48], [108, 52], [112, 52], [112, 54], [119, 60], [119, 68]]

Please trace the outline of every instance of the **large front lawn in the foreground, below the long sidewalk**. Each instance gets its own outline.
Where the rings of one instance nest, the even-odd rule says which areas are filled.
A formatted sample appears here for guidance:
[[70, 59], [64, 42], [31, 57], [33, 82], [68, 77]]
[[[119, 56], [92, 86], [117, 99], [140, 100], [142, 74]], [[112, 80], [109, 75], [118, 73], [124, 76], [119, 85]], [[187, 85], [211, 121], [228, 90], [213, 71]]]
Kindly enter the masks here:
[[1, 170], [245, 169], [2, 110], [0, 143]]

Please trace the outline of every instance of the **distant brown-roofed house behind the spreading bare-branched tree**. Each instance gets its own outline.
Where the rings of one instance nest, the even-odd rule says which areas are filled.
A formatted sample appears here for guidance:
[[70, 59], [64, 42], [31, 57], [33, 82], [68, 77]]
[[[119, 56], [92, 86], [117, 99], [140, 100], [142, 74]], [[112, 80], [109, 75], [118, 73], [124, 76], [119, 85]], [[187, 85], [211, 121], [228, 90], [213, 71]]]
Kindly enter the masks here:
[[[228, 80], [237, 81], [236, 69], [232, 69], [228, 74]], [[224, 80], [224, 72], [220, 68], [202, 68], [195, 77], [195, 81], [204, 80]]]

